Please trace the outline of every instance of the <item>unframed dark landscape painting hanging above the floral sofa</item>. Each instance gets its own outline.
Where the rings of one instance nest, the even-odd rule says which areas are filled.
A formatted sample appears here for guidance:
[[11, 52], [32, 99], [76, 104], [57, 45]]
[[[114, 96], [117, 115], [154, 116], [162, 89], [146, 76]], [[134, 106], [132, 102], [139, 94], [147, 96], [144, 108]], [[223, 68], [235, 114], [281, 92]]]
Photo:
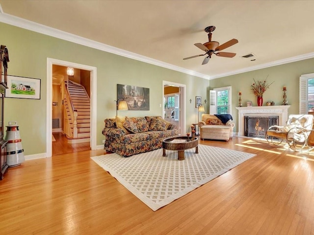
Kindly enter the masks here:
[[129, 110], [149, 110], [149, 88], [117, 84], [117, 94], [127, 101]]

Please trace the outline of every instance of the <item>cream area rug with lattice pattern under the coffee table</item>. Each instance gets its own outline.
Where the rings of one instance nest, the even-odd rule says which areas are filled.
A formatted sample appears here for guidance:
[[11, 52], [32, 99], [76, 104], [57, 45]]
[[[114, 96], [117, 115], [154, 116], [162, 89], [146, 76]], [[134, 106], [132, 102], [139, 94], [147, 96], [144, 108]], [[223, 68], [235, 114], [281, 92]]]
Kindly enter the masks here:
[[235, 150], [200, 144], [184, 151], [185, 160], [178, 161], [178, 151], [162, 149], [129, 158], [106, 154], [92, 159], [116, 178], [124, 187], [153, 211], [206, 184], [231, 168], [256, 156]]

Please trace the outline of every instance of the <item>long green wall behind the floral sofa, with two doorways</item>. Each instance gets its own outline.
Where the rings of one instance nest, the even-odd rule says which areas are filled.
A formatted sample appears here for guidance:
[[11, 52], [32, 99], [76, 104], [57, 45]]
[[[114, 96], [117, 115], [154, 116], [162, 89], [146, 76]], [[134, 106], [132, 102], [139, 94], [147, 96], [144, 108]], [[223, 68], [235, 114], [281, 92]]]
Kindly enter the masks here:
[[[9, 51], [8, 74], [41, 79], [41, 99], [5, 99], [4, 125], [17, 121], [25, 155], [46, 153], [47, 57], [97, 68], [97, 145], [102, 145], [105, 118], [114, 118], [117, 84], [150, 89], [149, 111], [118, 111], [118, 115], [162, 115], [162, 81], [186, 85], [186, 128], [197, 121], [195, 96], [206, 99], [209, 80], [161, 68], [98, 49], [81, 46], [16, 26], [0, 23], [0, 44]], [[192, 102], [190, 103], [190, 99]]]

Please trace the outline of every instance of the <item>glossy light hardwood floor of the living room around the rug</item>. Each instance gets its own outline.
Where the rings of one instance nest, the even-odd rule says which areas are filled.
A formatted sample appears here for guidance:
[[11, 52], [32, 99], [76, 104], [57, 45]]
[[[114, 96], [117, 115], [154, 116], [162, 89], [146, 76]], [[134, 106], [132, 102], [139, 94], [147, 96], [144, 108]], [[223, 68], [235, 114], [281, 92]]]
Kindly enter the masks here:
[[155, 212], [90, 159], [103, 150], [26, 161], [0, 181], [0, 234], [314, 235], [314, 153], [200, 143], [257, 156]]

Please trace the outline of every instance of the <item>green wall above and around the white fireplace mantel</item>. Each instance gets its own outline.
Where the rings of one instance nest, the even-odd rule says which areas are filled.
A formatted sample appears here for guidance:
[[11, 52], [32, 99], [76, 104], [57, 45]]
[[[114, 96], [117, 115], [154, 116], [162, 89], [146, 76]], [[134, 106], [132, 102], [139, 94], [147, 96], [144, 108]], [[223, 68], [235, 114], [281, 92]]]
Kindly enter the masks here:
[[[247, 101], [252, 101], [253, 106], [257, 106], [257, 98], [250, 91], [250, 86], [255, 80], [265, 80], [274, 83], [263, 94], [263, 105], [267, 101], [274, 101], [275, 105], [283, 102], [283, 87], [287, 87], [287, 101], [291, 105], [288, 114], [299, 114], [299, 78], [301, 74], [314, 72], [314, 58], [284, 65], [273, 66], [261, 70], [239, 73], [222, 78], [209, 80], [209, 90], [219, 87], [232, 86], [232, 116], [235, 121], [234, 132], [237, 132], [239, 92], [242, 92], [242, 105], [246, 106]], [[208, 97], [209, 97], [208, 90]], [[208, 104], [209, 105], [209, 104]]]

